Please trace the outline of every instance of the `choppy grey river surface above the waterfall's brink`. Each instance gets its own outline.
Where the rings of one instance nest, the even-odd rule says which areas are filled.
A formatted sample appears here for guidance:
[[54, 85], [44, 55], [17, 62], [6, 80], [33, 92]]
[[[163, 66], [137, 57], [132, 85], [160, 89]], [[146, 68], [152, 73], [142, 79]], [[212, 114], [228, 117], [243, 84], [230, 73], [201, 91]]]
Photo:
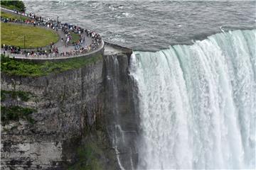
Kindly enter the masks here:
[[134, 50], [159, 50], [255, 28], [256, 1], [25, 1], [27, 11], [96, 30]]

